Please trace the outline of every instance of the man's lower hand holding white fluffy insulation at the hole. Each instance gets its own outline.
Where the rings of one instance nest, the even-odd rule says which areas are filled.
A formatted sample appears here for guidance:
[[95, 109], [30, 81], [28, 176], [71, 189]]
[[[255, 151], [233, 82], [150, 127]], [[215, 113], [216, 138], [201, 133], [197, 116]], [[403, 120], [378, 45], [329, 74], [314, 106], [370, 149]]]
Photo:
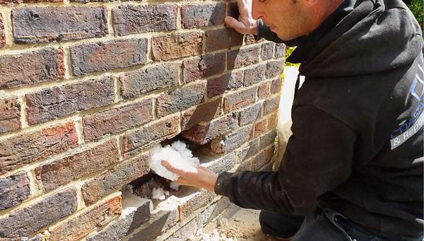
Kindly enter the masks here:
[[174, 172], [179, 175], [179, 179], [174, 181], [178, 185], [186, 185], [207, 189], [211, 192], [215, 190], [216, 180], [218, 175], [211, 172], [206, 167], [189, 167], [187, 170], [181, 170], [173, 167], [166, 160], [162, 161], [162, 165], [166, 167], [170, 172]]

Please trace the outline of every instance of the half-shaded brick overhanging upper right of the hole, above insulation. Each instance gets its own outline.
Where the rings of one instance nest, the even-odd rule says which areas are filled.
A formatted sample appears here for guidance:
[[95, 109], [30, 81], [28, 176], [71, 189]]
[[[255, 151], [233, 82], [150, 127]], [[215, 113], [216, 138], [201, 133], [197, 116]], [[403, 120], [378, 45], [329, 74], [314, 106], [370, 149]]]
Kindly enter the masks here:
[[185, 139], [194, 141], [199, 145], [204, 145], [215, 139], [216, 136], [221, 136], [237, 128], [237, 119], [232, 114], [219, 119], [214, 119], [206, 126], [196, 125], [187, 131], [182, 132]]

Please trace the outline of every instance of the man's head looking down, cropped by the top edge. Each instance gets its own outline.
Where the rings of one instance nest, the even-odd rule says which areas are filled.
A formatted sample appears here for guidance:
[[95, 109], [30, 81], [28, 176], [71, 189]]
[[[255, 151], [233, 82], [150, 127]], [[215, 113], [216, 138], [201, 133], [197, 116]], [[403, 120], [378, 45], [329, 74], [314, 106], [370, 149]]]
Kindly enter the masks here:
[[310, 34], [343, 0], [253, 0], [252, 16], [261, 18], [282, 40]]

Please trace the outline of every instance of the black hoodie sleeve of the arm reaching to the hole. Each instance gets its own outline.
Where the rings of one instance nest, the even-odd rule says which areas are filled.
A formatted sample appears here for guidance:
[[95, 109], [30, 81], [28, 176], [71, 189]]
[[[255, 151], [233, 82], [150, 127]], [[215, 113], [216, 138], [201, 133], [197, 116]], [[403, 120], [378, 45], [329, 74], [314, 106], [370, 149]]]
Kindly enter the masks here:
[[216, 194], [244, 208], [312, 213], [319, 195], [351, 175], [355, 131], [313, 106], [295, 109], [292, 131], [278, 171], [223, 172]]

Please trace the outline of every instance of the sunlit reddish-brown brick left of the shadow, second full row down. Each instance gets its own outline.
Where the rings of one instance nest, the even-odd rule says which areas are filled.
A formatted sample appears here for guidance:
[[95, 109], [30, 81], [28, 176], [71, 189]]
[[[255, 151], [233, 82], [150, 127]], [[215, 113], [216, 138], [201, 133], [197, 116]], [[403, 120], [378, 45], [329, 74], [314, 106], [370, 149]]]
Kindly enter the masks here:
[[152, 37], [153, 60], [176, 59], [202, 52], [203, 35], [198, 32], [172, 33]]

